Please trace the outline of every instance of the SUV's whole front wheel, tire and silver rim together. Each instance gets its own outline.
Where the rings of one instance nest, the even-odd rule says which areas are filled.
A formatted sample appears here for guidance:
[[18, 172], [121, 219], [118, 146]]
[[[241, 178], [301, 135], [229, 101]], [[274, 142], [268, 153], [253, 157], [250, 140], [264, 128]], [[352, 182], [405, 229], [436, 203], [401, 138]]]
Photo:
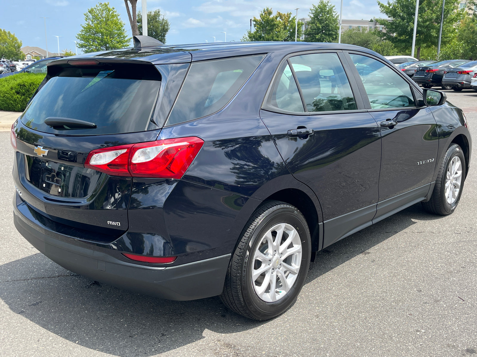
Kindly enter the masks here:
[[462, 149], [452, 144], [440, 163], [436, 185], [429, 202], [423, 202], [423, 207], [431, 213], [446, 216], [451, 214], [459, 204], [466, 177], [466, 160]]

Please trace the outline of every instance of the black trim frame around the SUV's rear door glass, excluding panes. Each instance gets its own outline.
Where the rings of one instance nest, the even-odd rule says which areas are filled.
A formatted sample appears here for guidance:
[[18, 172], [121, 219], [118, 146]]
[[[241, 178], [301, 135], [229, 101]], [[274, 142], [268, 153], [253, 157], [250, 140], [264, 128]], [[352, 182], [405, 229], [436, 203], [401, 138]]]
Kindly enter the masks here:
[[[346, 74], [346, 77], [348, 78], [348, 83], [350, 84], [351, 91], [353, 92], [353, 97], [354, 97], [354, 100], [356, 102], [356, 107], [358, 109], [354, 109], [354, 110], [330, 110], [330, 111], [307, 111], [306, 105], [305, 105], [305, 102], [304, 102], [304, 99], [303, 99], [303, 95], [301, 94], [300, 83], [298, 82], [298, 80], [295, 77], [295, 71], [293, 70], [292, 66], [290, 65], [289, 59], [291, 57], [308, 55], [308, 54], [313, 54], [313, 53], [336, 53], [338, 55], [338, 59], [340, 60], [342, 66], [343, 66], [344, 72]], [[363, 101], [363, 96], [361, 94], [361, 89], [358, 87], [358, 84], [357, 84], [359, 82], [356, 81], [356, 78], [353, 76], [352, 68], [350, 68], [349, 63], [347, 63], [344, 60], [344, 58], [345, 57], [343, 56], [343, 50], [332, 50], [332, 49], [329, 49], [329, 50], [308, 50], [308, 51], [300, 51], [300, 52], [289, 53], [288, 55], [283, 57], [283, 59], [280, 61], [279, 65], [275, 69], [275, 73], [273, 74], [273, 77], [270, 81], [269, 87], [267, 89], [267, 92], [265, 94], [265, 97], [263, 99], [262, 106], [261, 106], [260, 109], [270, 111], [272, 113], [296, 115], [296, 116], [310, 116], [310, 115], [324, 115], [324, 114], [330, 115], [330, 114], [345, 114], [345, 113], [350, 113], [351, 114], [351, 113], [366, 112], [367, 109], [364, 106], [364, 101]], [[350, 58], [350, 60], [351, 60], [351, 58]], [[275, 83], [276, 83], [276, 81], [278, 79], [278, 76], [279, 76], [278, 72], [279, 72], [279, 70], [282, 67], [284, 62], [287, 62], [290, 69], [291, 69], [291, 73], [293, 74], [293, 78], [295, 79], [296, 85], [297, 85], [298, 90], [300, 92], [301, 103], [302, 103], [303, 108], [305, 110], [304, 112], [282, 110], [280, 108], [276, 108], [276, 107], [272, 107], [272, 106], [268, 105], [268, 101], [269, 101], [269, 98], [271, 96], [271, 92], [273, 91], [273, 88], [274, 88]], [[354, 64], [353, 64], [353, 67], [354, 67]], [[360, 79], [360, 81], [361, 81], [361, 79]], [[363, 89], [364, 89], [364, 86], [363, 86]], [[366, 96], [366, 99], [367, 99], [367, 96]]]

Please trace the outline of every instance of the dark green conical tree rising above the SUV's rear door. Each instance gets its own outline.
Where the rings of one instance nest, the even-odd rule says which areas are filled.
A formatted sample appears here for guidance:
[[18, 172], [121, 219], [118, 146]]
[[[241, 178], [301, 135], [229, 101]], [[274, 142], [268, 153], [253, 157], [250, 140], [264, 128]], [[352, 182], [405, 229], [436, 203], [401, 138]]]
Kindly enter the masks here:
[[338, 40], [340, 25], [338, 13], [330, 1], [320, 0], [318, 5], [311, 5], [310, 21], [305, 30], [307, 42], [335, 42]]

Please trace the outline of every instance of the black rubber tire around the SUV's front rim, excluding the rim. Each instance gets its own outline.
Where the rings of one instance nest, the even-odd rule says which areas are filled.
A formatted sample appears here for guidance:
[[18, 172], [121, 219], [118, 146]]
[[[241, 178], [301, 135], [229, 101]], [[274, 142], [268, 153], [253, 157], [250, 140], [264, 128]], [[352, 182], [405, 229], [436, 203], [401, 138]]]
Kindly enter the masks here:
[[[449, 162], [454, 158], [458, 157], [462, 163], [462, 180], [459, 189], [459, 194], [454, 203], [449, 204], [446, 200], [446, 174], [447, 167]], [[460, 197], [462, 195], [462, 189], [464, 188], [464, 180], [466, 177], [466, 159], [462, 148], [457, 144], [452, 144], [449, 146], [449, 149], [446, 151], [446, 155], [439, 164], [439, 172], [436, 178], [436, 186], [434, 186], [434, 191], [432, 191], [431, 199], [428, 202], [422, 202], [424, 209], [430, 213], [436, 215], [447, 216], [454, 212], [457, 205], [459, 204]]]

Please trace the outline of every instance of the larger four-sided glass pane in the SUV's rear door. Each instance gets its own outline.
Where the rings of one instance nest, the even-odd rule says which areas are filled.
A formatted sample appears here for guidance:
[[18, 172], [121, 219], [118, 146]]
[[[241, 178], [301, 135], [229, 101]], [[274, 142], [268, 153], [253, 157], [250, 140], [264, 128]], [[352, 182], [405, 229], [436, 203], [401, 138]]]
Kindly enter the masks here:
[[336, 53], [312, 53], [290, 58], [309, 112], [354, 110], [356, 103]]

